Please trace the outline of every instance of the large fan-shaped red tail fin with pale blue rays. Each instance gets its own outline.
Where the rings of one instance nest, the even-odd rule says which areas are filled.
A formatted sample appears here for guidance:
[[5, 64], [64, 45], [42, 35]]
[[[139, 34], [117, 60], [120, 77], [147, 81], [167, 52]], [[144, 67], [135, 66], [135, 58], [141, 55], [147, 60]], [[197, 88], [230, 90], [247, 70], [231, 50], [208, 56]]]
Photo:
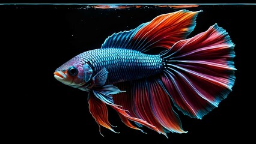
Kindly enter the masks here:
[[185, 115], [201, 119], [234, 85], [234, 44], [217, 24], [162, 53], [165, 89]]

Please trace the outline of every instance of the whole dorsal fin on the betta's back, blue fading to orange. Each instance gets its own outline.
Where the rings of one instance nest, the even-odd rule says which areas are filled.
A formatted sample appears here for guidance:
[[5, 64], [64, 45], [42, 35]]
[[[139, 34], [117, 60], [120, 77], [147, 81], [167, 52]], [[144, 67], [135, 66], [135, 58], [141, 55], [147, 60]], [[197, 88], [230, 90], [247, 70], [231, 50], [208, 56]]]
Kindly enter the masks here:
[[140, 52], [147, 52], [156, 47], [169, 49], [194, 30], [195, 19], [199, 12], [180, 10], [162, 14], [151, 22], [139, 25], [138, 28], [111, 35], [102, 44], [102, 49], [123, 48]]

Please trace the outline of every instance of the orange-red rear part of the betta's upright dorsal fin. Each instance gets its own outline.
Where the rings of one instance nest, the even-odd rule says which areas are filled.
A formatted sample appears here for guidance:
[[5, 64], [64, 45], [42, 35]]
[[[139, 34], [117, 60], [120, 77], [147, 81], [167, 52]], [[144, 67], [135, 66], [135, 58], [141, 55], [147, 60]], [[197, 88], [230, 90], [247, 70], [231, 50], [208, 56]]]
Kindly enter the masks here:
[[144, 41], [144, 49], [153, 47], [171, 48], [194, 30], [195, 19], [200, 11], [180, 10], [157, 16], [136, 32], [133, 41]]

